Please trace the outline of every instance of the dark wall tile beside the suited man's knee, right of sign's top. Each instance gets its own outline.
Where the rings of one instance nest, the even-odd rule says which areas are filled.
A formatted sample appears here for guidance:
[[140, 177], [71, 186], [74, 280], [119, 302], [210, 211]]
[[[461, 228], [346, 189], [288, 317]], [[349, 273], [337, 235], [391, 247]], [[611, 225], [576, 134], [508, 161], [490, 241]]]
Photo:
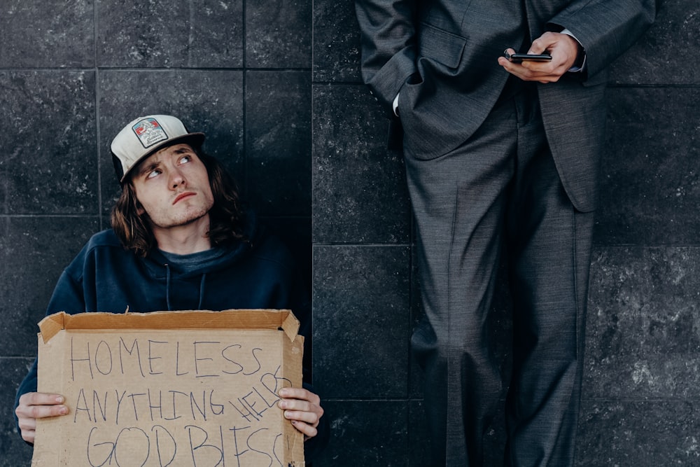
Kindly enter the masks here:
[[407, 246], [314, 245], [314, 387], [407, 398]]

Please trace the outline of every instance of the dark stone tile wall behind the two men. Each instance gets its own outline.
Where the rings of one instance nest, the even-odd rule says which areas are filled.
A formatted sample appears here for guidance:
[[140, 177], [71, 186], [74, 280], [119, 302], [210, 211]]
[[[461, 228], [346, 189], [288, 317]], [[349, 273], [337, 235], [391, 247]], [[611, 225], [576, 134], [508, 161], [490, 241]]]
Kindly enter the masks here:
[[[665, 1], [613, 67], [579, 466], [700, 465], [699, 30], [696, 1]], [[313, 285], [316, 466], [425, 465], [405, 174], [359, 58], [351, 1], [2, 2], [0, 467], [29, 465], [14, 393], [58, 275], [107, 225], [109, 141], [155, 112], [207, 133]]]

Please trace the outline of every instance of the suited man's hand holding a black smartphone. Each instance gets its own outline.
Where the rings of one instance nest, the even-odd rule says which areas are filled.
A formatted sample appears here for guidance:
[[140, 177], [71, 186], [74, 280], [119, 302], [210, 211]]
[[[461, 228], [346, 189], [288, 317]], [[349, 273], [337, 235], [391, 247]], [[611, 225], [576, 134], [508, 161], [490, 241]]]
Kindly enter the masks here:
[[[549, 62], [510, 62], [505, 57], [498, 57], [498, 64], [508, 73], [514, 74], [523, 81], [539, 81], [540, 83], [555, 83], [563, 76], [578, 57], [580, 46], [576, 39], [559, 32], [545, 32], [535, 39], [528, 53], [549, 53], [552, 60]], [[508, 53], [515, 53], [512, 48]]]

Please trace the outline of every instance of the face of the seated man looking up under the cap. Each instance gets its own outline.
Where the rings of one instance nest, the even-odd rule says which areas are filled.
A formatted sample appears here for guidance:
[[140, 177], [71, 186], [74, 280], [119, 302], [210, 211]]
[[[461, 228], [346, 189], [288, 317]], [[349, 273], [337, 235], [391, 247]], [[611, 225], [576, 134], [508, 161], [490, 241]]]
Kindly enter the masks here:
[[154, 232], [200, 220], [208, 227], [214, 195], [207, 168], [188, 144], [174, 144], [146, 158], [136, 167], [132, 184]]

